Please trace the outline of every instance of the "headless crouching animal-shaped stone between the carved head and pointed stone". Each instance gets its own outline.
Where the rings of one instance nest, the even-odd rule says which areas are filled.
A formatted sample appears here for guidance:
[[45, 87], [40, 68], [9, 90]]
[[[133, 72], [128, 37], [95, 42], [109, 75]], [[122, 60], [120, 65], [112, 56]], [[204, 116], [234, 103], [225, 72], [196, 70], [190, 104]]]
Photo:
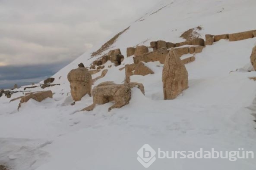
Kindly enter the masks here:
[[82, 111], [91, 111], [95, 105], [102, 105], [114, 101], [114, 105], [108, 108], [121, 108], [127, 105], [131, 99], [131, 88], [138, 87], [144, 94], [144, 86], [141, 83], [115, 84], [113, 82], [103, 82], [92, 90], [93, 104], [82, 109]]

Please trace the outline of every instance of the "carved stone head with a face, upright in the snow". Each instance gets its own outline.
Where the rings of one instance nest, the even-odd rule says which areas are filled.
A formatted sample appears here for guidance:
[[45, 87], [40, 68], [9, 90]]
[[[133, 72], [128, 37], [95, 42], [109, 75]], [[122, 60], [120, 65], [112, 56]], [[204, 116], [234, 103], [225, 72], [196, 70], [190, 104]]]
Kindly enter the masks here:
[[73, 100], [79, 101], [83, 96], [92, 92], [92, 75], [86, 68], [73, 69], [67, 75], [70, 82], [70, 92]]

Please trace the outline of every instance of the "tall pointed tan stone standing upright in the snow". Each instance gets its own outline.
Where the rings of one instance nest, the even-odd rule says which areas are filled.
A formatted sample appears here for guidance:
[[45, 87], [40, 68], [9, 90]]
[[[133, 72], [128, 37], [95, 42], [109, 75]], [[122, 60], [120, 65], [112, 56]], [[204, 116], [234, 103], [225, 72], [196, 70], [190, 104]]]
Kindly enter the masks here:
[[188, 88], [188, 72], [180, 57], [172, 48], [167, 55], [162, 72], [164, 99], [175, 99]]

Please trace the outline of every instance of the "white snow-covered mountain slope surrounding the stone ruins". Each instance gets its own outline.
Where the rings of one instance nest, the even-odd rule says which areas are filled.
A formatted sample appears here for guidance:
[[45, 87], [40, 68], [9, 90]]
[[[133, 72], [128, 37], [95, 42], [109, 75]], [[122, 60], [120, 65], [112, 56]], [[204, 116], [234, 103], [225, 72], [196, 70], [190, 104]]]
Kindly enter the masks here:
[[[205, 34], [253, 30], [255, 12], [255, 0], [162, 0], [127, 25], [130, 28], [110, 49], [120, 48], [126, 56], [126, 47], [137, 44], [181, 42], [180, 35], [197, 26], [202, 27], [199, 34], [203, 38]], [[206, 46], [196, 54], [195, 62], [186, 64], [189, 88], [177, 99], [163, 100], [163, 65], [151, 62], [147, 65], [155, 74], [131, 77], [131, 81], [144, 84], [145, 96], [134, 88], [129, 105], [123, 108], [107, 112], [111, 105], [107, 103], [97, 105], [94, 111], [76, 112], [91, 105], [92, 98], [86, 95], [71, 106], [67, 73], [80, 62], [89, 66], [100, 57], [91, 58], [91, 53], [103, 43], [53, 76], [54, 83], [60, 83], [47, 88], [55, 93], [53, 99], [29, 100], [18, 112], [19, 101], [9, 103], [5, 96], [0, 98], [0, 164], [13, 170], [140, 170], [144, 167], [137, 161], [137, 151], [145, 143], [164, 151], [244, 148], [256, 154], [256, 124], [251, 115], [256, 83], [248, 79], [256, 72], [247, 72], [256, 38], [220, 40]], [[122, 65], [108, 68], [94, 86], [103, 81], [123, 83], [125, 71], [119, 69], [132, 62], [132, 57], [125, 58]], [[104, 65], [107, 68], [111, 62]], [[21, 95], [15, 93], [12, 99]], [[255, 170], [256, 161], [157, 159], [148, 169]]]

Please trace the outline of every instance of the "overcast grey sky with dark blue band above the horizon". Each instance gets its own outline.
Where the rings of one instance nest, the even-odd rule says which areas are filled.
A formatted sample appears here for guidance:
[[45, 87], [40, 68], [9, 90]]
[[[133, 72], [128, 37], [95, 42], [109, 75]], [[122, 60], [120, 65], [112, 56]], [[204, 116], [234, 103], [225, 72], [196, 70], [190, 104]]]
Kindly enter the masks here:
[[0, 88], [51, 76], [160, 0], [0, 0]]

